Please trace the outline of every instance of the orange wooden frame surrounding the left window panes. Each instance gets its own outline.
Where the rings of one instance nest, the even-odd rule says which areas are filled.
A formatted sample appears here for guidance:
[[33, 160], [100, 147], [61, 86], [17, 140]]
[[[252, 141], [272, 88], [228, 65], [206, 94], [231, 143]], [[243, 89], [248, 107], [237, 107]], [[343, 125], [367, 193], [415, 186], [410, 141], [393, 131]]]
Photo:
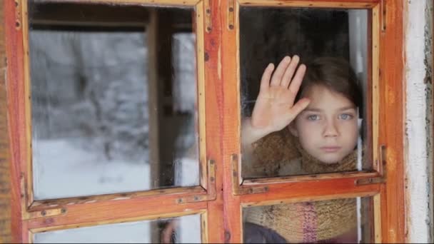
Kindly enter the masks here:
[[[211, 34], [211, 23], [207, 9], [216, 9], [209, 1], [203, 0], [97, 0], [97, 1], [57, 1], [94, 4], [133, 4], [137, 6], [188, 6], [195, 12], [196, 25], [196, 65], [198, 80], [198, 130], [200, 185], [146, 190], [132, 193], [114, 193], [54, 200], [34, 200], [31, 177], [31, 96], [29, 91], [29, 44], [28, 13], [26, 0], [4, 1], [6, 28], [6, 56], [8, 60], [7, 85], [9, 138], [11, 151], [12, 183], [12, 240], [17, 243], [33, 241], [34, 233], [46, 230], [77, 228], [81, 226], [123, 223], [126, 221], [149, 220], [201, 214], [201, 240], [213, 242], [218, 237], [208, 235], [208, 228], [222, 225], [208, 214], [208, 208], [217, 208], [216, 184], [220, 183], [215, 175], [216, 161], [221, 158], [219, 143], [211, 138], [219, 135], [216, 100], [206, 98], [206, 94], [216, 93], [213, 77], [216, 59], [209, 60], [207, 55], [217, 56], [217, 49], [208, 48], [208, 39], [219, 42], [219, 36]], [[154, 30], [155, 31], [155, 30]], [[207, 41], [205, 41], [207, 39]], [[208, 45], [209, 46], [209, 45]], [[210, 101], [211, 100], [211, 101]], [[205, 127], [205, 124], [208, 126]], [[212, 130], [208, 129], [211, 126]], [[211, 143], [207, 143], [211, 142]], [[214, 201], [213, 201], [214, 200]], [[164, 206], [164, 208], [161, 208]], [[106, 213], [109, 211], [110, 215]], [[214, 210], [213, 213], [218, 213]], [[221, 214], [220, 214], [221, 215]], [[216, 220], [208, 221], [211, 218]]]

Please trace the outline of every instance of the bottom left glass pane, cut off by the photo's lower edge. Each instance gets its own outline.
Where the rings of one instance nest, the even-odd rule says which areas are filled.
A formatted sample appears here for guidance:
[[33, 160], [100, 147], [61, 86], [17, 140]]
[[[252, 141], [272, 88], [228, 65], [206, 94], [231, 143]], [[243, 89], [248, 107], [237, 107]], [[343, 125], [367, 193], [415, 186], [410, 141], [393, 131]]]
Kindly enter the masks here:
[[34, 243], [160, 243], [168, 225], [172, 243], [201, 243], [201, 215], [36, 233]]

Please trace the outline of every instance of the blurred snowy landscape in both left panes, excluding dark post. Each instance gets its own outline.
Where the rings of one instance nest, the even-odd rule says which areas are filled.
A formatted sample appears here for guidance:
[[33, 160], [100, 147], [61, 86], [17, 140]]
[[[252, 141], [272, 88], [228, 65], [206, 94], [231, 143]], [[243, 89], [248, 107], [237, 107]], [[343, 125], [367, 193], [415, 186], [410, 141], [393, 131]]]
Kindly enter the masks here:
[[[35, 200], [161, 187], [151, 176], [160, 162], [149, 160], [146, 33], [31, 29], [29, 41]], [[171, 135], [172, 186], [199, 183], [194, 43], [194, 34], [173, 36], [173, 110], [183, 117]], [[200, 243], [200, 215], [178, 219], [176, 241]], [[148, 243], [150, 222], [55, 230], [34, 240]]]

